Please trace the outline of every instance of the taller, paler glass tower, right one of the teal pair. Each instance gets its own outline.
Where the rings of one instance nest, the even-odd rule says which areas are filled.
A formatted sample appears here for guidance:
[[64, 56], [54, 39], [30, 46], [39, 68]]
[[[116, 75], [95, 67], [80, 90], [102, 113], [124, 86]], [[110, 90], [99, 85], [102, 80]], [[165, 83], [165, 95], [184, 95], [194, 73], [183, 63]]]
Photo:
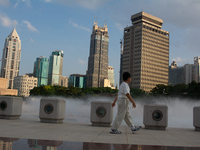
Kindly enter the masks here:
[[49, 57], [48, 85], [61, 85], [63, 51], [55, 50]]

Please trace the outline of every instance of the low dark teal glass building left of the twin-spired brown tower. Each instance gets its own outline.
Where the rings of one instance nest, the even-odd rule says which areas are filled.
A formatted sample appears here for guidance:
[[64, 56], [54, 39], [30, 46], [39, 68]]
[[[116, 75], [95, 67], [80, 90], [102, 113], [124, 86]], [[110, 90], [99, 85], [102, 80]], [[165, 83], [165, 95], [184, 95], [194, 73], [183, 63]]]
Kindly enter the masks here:
[[86, 87], [86, 75], [71, 74], [69, 77], [69, 87], [70, 86], [85, 88]]

